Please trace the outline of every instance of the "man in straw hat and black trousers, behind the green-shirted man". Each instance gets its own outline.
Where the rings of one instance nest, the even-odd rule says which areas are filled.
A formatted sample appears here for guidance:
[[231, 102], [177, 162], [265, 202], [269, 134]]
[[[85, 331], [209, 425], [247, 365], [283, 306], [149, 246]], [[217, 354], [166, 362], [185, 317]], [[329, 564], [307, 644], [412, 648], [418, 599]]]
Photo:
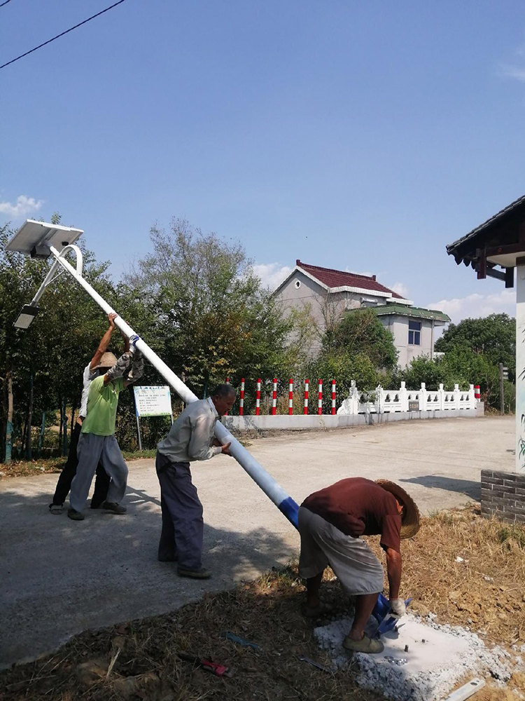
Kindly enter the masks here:
[[[87, 414], [87, 393], [90, 390], [90, 384], [95, 377], [104, 375], [106, 370], [109, 370], [109, 368], [112, 365], [115, 365], [117, 362], [117, 359], [113, 353], [106, 353], [108, 350], [109, 341], [111, 341], [111, 336], [113, 335], [113, 331], [116, 329], [115, 318], [115, 313], [108, 315], [109, 329], [106, 331], [104, 336], [102, 336], [102, 340], [100, 341], [99, 347], [93, 355], [91, 362], [84, 368], [82, 378], [82, 398], [80, 399], [80, 409], [78, 411], [78, 418], [75, 423], [75, 428], [73, 428], [73, 433], [71, 433], [71, 444], [69, 445], [67, 462], [64, 465], [64, 469], [60, 473], [55, 494], [53, 495], [53, 501], [49, 505], [50, 512], [55, 515], [62, 513], [64, 501], [66, 501], [66, 496], [69, 494], [69, 490], [71, 489], [73, 477], [76, 475], [76, 466], [78, 465], [76, 448], [78, 446], [78, 438], [80, 437], [82, 422]], [[127, 336], [124, 334], [122, 334], [122, 336], [124, 339], [125, 351], [129, 351], [130, 342], [128, 341]], [[100, 505], [106, 501], [109, 479], [110, 478], [106, 470], [104, 470], [102, 465], [99, 463], [97, 465], [97, 479], [95, 479], [94, 482], [94, 494], [91, 499], [92, 509], [100, 508]]]

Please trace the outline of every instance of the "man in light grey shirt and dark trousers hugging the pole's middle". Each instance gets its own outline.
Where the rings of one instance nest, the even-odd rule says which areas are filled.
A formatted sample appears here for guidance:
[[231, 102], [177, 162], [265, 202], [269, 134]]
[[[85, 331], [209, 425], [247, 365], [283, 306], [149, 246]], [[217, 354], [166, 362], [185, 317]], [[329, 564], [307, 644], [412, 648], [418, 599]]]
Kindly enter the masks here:
[[188, 404], [157, 447], [155, 468], [162, 508], [158, 559], [177, 561], [181, 577], [211, 577], [211, 572], [202, 566], [204, 520], [202, 503], [191, 481], [190, 462], [230, 454], [230, 443], [221, 445], [214, 433], [217, 419], [230, 411], [235, 397], [234, 388], [222, 384], [208, 399]]

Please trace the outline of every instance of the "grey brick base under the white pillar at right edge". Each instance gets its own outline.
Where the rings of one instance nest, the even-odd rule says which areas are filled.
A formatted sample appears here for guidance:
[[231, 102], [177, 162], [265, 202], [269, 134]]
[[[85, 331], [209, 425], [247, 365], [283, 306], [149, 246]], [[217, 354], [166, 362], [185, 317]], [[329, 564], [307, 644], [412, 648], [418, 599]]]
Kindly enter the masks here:
[[525, 524], [525, 472], [482, 470], [482, 516]]

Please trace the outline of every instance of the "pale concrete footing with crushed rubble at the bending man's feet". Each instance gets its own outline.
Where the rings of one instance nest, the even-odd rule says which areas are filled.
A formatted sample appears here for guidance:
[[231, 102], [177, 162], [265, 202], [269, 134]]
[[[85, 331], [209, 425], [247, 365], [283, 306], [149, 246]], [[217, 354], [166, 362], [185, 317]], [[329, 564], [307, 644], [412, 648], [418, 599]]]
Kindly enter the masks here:
[[[352, 619], [342, 618], [314, 629], [321, 648], [330, 651], [332, 669], [358, 665], [360, 686], [380, 691], [396, 701], [439, 701], [463, 677], [490, 675], [504, 686], [520, 658], [498, 646], [489, 649], [475, 633], [458, 626], [437, 625], [430, 613], [421, 619], [407, 613], [398, 631], [381, 637], [385, 649], [379, 655], [355, 653], [353, 658], [342, 647]], [[370, 619], [368, 634], [377, 622]], [[424, 642], [423, 642], [424, 640]], [[408, 646], [407, 651], [405, 651]]]

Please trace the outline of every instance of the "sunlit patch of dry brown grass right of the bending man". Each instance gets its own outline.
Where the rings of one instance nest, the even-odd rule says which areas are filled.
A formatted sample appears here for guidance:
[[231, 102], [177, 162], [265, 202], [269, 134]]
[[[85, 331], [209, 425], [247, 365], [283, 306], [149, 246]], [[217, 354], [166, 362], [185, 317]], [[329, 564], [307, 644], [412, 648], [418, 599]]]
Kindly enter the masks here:
[[425, 519], [420, 533], [403, 549], [412, 607], [481, 630], [488, 641], [525, 644], [525, 529], [470, 507]]

